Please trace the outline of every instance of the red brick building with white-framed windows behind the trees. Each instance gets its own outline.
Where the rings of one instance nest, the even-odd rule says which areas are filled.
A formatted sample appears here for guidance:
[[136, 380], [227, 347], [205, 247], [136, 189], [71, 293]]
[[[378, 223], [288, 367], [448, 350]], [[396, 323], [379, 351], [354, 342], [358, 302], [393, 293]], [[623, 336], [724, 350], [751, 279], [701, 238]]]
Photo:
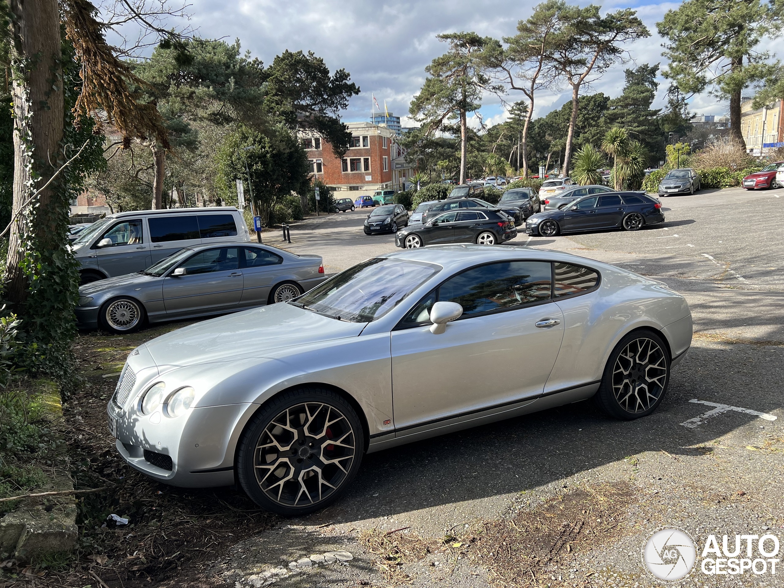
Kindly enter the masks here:
[[315, 132], [301, 132], [310, 172], [335, 191], [370, 192], [392, 187], [394, 131], [369, 122], [349, 122], [351, 142], [343, 158]]

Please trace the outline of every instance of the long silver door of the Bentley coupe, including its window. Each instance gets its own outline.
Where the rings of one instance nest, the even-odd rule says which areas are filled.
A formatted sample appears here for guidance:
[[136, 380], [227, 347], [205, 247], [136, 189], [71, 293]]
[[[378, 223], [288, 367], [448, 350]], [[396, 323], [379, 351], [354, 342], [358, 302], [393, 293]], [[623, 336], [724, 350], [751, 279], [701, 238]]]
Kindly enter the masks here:
[[[395, 428], [416, 432], [542, 394], [564, 334], [551, 275], [549, 262], [488, 263], [417, 303], [391, 336]], [[463, 316], [434, 335], [429, 310], [441, 300]]]

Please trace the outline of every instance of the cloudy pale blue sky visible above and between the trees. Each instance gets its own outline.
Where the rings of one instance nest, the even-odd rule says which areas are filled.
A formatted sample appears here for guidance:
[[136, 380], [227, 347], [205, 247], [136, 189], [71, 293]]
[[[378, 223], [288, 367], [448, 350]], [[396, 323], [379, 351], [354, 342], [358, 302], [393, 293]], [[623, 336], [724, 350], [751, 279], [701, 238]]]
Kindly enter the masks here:
[[[579, 2], [581, 5], [588, 2]], [[495, 38], [515, 33], [517, 21], [532, 13], [534, 3], [511, 0], [191, 0], [191, 25], [205, 38], [239, 38], [244, 49], [270, 64], [285, 49], [312, 50], [322, 56], [332, 71], [339, 67], [351, 74], [361, 88], [343, 113], [347, 122], [367, 120], [371, 94], [390, 112], [408, 114], [408, 103], [421, 87], [424, 67], [445, 52], [436, 34], [476, 31]], [[665, 65], [661, 56], [662, 39], [655, 23], [677, 2], [604, 3], [604, 11], [637, 9], [652, 36], [628, 46], [632, 64], [619, 64], [595, 82], [593, 92], [618, 96], [623, 86], [623, 70], [633, 64]], [[172, 24], [176, 24], [173, 23]], [[662, 107], [668, 82], [660, 79], [654, 107]], [[522, 96], [510, 96], [509, 101]], [[570, 99], [566, 89], [538, 97], [535, 116], [543, 116]], [[691, 100], [695, 114], [726, 114], [725, 103], [712, 96]], [[481, 115], [486, 123], [502, 122], [506, 113], [495, 96], [486, 96]], [[474, 121], [474, 125], [477, 121]], [[405, 121], [404, 121], [405, 125]]]

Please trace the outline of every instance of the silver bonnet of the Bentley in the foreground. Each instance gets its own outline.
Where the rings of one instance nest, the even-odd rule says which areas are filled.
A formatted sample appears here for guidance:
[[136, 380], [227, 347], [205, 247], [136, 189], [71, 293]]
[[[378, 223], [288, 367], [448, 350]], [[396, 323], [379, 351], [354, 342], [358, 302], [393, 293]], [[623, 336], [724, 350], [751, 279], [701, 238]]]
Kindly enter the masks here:
[[159, 368], [263, 358], [283, 347], [356, 337], [367, 323], [338, 321], [278, 303], [201, 321], [146, 343]]

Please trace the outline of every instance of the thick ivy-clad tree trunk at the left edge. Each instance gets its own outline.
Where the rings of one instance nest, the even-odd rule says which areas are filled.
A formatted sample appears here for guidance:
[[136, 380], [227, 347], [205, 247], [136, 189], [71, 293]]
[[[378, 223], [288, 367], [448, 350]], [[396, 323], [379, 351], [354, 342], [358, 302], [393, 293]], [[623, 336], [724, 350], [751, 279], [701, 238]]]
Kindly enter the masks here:
[[[24, 212], [31, 198], [63, 165], [60, 142], [64, 132], [63, 70], [60, 65], [60, 13], [57, 0], [11, 0], [11, 55], [21, 71], [13, 80], [13, 223], [9, 236], [5, 297], [13, 305], [27, 298], [27, 277], [20, 263], [28, 230], [54, 237], [56, 214], [50, 201], [56, 182], [38, 194], [33, 222]], [[32, 203], [34, 205], [35, 203]]]

